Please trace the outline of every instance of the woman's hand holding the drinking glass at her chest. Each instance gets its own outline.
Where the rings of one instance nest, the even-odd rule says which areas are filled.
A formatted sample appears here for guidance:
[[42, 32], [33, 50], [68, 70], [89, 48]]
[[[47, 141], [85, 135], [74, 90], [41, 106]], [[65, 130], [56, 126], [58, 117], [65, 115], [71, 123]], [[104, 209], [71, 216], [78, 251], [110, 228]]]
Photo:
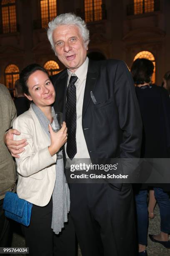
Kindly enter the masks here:
[[50, 155], [53, 156], [55, 153], [57, 153], [60, 148], [65, 144], [67, 141], [67, 127], [66, 123], [63, 122], [62, 128], [55, 133], [52, 130], [51, 125], [49, 126], [50, 131], [50, 138], [51, 138], [51, 145], [48, 147], [48, 151], [50, 152]]

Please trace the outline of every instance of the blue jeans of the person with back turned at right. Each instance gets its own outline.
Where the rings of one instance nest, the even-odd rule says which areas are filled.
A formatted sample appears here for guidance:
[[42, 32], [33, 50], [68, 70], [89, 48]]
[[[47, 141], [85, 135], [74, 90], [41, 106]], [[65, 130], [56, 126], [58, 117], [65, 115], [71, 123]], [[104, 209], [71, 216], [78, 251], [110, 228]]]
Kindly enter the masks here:
[[[155, 198], [160, 208], [160, 231], [170, 233], [170, 197], [162, 188], [154, 187]], [[135, 195], [137, 222], [138, 222], [138, 243], [147, 245], [148, 236], [148, 190], [140, 190]]]

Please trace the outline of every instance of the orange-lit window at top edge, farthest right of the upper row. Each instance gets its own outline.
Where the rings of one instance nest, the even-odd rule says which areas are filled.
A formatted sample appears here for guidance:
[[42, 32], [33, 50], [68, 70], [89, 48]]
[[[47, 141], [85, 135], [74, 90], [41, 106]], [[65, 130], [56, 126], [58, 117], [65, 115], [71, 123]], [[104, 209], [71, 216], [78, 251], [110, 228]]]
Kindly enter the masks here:
[[154, 12], [154, 0], [134, 0], [134, 14]]

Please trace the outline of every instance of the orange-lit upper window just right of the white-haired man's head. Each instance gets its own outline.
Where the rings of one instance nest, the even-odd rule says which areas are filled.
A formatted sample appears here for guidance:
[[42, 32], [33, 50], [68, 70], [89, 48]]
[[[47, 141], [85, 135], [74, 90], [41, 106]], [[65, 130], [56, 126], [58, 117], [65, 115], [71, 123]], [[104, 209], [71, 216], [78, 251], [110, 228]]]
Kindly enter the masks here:
[[85, 21], [102, 20], [102, 0], [84, 0]]

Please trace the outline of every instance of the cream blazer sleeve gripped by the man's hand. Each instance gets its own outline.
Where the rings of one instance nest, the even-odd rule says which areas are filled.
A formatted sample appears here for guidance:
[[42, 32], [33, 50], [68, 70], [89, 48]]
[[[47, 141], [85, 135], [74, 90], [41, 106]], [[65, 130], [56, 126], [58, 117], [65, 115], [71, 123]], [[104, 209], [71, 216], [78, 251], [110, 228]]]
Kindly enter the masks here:
[[19, 116], [15, 119], [13, 128], [21, 131], [20, 135], [14, 135], [14, 140], [19, 141], [26, 138], [28, 142], [25, 150], [19, 154], [20, 158], [15, 159], [18, 166], [17, 171], [20, 175], [28, 177], [56, 163], [56, 154], [51, 156], [48, 146], [38, 151], [35, 150], [29, 119]]

